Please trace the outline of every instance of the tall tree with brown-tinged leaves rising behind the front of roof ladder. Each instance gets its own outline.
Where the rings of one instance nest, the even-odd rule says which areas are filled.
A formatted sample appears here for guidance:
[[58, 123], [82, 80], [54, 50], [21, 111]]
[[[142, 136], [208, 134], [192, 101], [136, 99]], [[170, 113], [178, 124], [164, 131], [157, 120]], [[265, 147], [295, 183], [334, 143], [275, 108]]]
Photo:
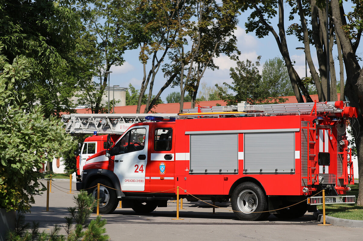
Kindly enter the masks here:
[[238, 23], [238, 8], [233, 1], [224, 0], [223, 4], [217, 4], [215, 0], [184, 1], [182, 7], [185, 10], [176, 13], [178, 32], [175, 48], [169, 54], [172, 63], [168, 66], [174, 71], [178, 68], [180, 72], [174, 81], [174, 85], [180, 86], [179, 111], [183, 108], [185, 91], [192, 98], [191, 107], [195, 107], [205, 70], [218, 68], [214, 58], [225, 54], [236, 59], [234, 53], [240, 53], [233, 35]]

